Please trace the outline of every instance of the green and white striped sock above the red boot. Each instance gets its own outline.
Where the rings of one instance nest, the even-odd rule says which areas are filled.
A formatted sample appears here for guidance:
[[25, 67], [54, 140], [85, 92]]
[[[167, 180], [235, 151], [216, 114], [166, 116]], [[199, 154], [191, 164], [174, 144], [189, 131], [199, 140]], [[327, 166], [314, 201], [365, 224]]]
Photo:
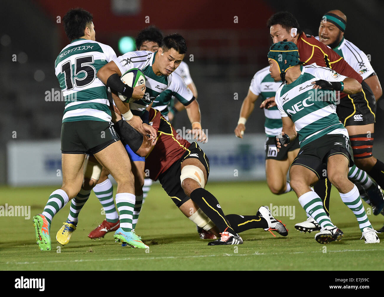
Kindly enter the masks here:
[[113, 201], [113, 185], [111, 180], [106, 179], [100, 184], [95, 185], [93, 191], [101, 205], [103, 205], [107, 222], [116, 223], [119, 220], [119, 214]]

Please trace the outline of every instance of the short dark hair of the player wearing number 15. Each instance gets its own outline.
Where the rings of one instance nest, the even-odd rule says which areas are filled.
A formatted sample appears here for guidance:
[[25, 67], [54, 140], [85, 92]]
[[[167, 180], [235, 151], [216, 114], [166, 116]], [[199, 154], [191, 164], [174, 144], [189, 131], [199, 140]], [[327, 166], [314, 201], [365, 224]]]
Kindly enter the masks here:
[[84, 36], [84, 30], [92, 23], [93, 15], [83, 8], [73, 8], [63, 17], [65, 34], [72, 41]]

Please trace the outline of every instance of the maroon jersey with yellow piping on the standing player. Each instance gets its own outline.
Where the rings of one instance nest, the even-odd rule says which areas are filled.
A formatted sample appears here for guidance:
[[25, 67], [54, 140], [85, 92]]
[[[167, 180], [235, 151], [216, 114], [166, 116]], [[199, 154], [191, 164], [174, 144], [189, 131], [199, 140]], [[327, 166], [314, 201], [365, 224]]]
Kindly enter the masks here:
[[[337, 73], [346, 77], [352, 77], [359, 83], [362, 82], [362, 77], [338, 54], [331, 48], [318, 41], [311, 35], [301, 33], [298, 37], [297, 48], [299, 49], [300, 61], [306, 64], [314, 64], [317, 66], [328, 67]], [[341, 98], [347, 96], [341, 93]]]

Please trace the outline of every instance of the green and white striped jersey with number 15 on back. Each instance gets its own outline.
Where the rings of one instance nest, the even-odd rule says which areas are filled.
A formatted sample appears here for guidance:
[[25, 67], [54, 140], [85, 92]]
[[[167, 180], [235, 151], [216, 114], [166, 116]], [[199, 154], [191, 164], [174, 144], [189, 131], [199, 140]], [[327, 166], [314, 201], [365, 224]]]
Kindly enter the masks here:
[[114, 58], [110, 46], [88, 39], [76, 39], [61, 50], [55, 74], [66, 101], [63, 123], [111, 121], [107, 89], [96, 73]]

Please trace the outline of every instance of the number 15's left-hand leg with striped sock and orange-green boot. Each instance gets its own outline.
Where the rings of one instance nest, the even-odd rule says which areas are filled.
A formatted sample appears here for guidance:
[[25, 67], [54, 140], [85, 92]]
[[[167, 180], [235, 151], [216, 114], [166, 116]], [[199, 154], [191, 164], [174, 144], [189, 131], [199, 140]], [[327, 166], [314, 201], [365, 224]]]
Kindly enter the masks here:
[[50, 195], [43, 213], [33, 217], [36, 243], [41, 251], [51, 249], [50, 226], [54, 215], [78, 194], [83, 181], [84, 154], [61, 154], [63, 185]]

